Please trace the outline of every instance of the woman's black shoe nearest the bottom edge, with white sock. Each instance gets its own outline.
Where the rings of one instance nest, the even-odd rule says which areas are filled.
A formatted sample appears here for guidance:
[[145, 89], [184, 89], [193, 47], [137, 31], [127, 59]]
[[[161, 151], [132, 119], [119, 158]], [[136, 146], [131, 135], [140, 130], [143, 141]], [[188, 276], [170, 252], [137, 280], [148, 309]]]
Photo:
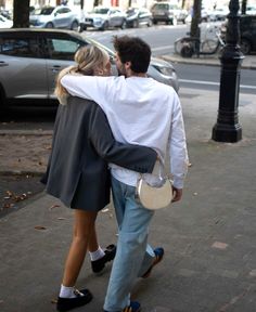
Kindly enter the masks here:
[[[57, 298], [56, 310], [60, 312], [69, 311], [72, 309], [85, 306], [92, 299], [92, 294], [88, 289], [74, 290], [74, 298]], [[84, 295], [84, 296], [82, 296]]]

